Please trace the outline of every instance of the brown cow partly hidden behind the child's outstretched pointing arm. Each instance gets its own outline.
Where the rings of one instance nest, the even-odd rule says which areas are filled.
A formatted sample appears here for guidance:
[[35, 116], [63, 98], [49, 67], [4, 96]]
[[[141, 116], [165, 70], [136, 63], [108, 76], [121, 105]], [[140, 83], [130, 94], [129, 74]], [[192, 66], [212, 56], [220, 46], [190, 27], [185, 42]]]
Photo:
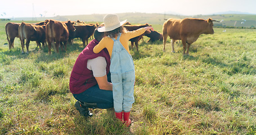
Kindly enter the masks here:
[[[133, 30], [137, 30], [137, 29], [144, 28], [146, 26], [151, 26], [151, 25], [144, 24], [144, 25], [123, 25], [123, 26], [128, 31], [133, 31]], [[146, 33], [149, 33], [149, 32], [145, 31], [145, 33], [143, 33], [143, 34], [141, 34], [141, 35], [139, 35], [139, 36], [137, 36], [135, 38], [130, 39], [132, 48], [133, 48], [133, 44], [135, 43], [136, 49], [138, 51], [138, 42], [143, 37], [143, 35], [146, 34]]]

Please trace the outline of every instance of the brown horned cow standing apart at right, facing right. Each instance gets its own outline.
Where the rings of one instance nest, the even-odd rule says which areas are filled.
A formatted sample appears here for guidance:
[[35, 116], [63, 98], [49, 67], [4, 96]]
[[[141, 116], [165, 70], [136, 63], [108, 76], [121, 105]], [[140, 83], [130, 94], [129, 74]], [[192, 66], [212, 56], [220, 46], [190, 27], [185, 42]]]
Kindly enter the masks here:
[[[163, 25], [163, 37], [164, 37], [164, 47], [167, 42], [167, 37], [172, 39], [172, 52], [174, 51], [175, 40], [182, 40], [183, 44], [183, 55], [189, 55], [188, 50], [190, 45], [194, 43], [199, 35], [201, 34], [214, 34], [212, 19], [168, 19]], [[187, 46], [186, 46], [187, 44]], [[187, 51], [185, 53], [185, 50]]]

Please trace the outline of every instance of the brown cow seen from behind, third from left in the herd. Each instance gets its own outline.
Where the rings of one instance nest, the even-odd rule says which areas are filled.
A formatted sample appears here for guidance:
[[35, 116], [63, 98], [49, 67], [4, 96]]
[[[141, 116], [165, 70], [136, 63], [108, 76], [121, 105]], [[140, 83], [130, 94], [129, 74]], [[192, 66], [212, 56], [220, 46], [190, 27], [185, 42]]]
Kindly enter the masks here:
[[[56, 52], [59, 53], [59, 46], [62, 45], [62, 42], [64, 43], [64, 48], [66, 51], [66, 43], [69, 39], [69, 33], [70, 31], [74, 31], [75, 28], [73, 26], [74, 22], [66, 21], [66, 22], [60, 22], [56, 20], [50, 20], [48, 24], [46, 25], [46, 40], [48, 43], [48, 53], [51, 55], [51, 47], [52, 43], [55, 43]], [[63, 48], [61, 47], [61, 50]]]

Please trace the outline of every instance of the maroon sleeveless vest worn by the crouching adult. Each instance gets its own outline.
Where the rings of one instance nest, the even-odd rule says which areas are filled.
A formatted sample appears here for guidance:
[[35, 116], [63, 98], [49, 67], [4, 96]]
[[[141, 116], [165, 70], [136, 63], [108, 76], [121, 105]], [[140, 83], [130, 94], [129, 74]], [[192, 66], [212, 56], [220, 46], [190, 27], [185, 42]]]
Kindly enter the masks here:
[[97, 84], [95, 77], [93, 77], [92, 71], [87, 69], [87, 61], [95, 59], [98, 56], [105, 57], [107, 62], [106, 73], [109, 73], [110, 56], [109, 52], [102, 50], [100, 53], [94, 53], [93, 48], [98, 44], [98, 41], [93, 39], [84, 50], [79, 54], [75, 65], [70, 75], [69, 89], [73, 94], [79, 94], [86, 89], [91, 88]]

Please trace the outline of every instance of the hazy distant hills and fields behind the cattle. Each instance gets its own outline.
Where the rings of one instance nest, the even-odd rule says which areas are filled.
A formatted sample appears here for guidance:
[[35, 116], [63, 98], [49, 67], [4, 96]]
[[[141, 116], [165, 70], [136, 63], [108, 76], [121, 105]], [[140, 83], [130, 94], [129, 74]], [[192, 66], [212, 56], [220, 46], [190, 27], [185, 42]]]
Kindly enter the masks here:
[[[141, 12], [127, 12], [127, 13], [117, 13], [120, 20], [125, 20], [131, 22], [132, 24], [159, 24], [162, 25], [164, 23], [164, 19], [169, 18], [177, 18], [184, 19], [187, 17], [198, 18], [198, 19], [208, 19], [212, 18], [213, 20], [218, 20], [221, 22], [214, 22], [215, 26], [222, 27], [244, 27], [244, 28], [254, 28], [256, 27], [256, 15], [252, 15], [250, 13], [237, 14], [241, 12], [233, 12], [229, 11], [226, 13], [230, 14], [213, 14], [213, 15], [194, 15], [194, 16], [185, 16], [185, 15], [175, 15], [169, 13], [141, 13]], [[105, 14], [92, 14], [92, 15], [73, 15], [73, 16], [54, 16], [54, 17], [26, 17], [26, 18], [15, 18], [11, 19], [11, 21], [15, 20], [23, 20], [23, 21], [43, 21], [46, 19], [54, 19], [59, 21], [84, 21], [84, 22], [99, 22], [103, 21], [103, 17]]]

